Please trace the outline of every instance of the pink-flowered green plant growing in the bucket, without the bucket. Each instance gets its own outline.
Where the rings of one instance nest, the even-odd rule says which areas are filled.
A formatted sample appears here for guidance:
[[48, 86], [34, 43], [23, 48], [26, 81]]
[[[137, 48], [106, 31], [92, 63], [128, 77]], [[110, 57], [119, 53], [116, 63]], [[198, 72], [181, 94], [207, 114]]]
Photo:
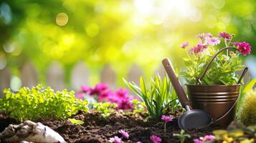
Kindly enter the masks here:
[[[199, 38], [199, 43], [190, 49], [190, 53], [187, 52], [188, 58], [184, 58], [184, 64], [186, 70], [181, 72], [188, 84], [196, 84], [207, 64], [212, 59], [217, 50], [217, 45], [221, 43], [220, 38], [224, 39], [224, 46], [234, 51], [226, 50], [227, 52], [221, 52], [210, 65], [207, 73], [201, 82], [202, 85], [233, 85], [237, 84], [239, 76], [235, 71], [239, 71], [244, 67], [242, 60], [239, 59], [240, 53], [246, 55], [250, 54], [251, 46], [246, 42], [232, 43], [232, 37], [234, 35], [227, 34], [226, 32], [219, 32], [219, 37], [214, 37], [212, 34], [199, 34], [196, 38]], [[234, 47], [230, 47], [232, 44]], [[182, 44], [182, 48], [189, 46], [189, 43]], [[225, 50], [225, 49], [223, 49]]]

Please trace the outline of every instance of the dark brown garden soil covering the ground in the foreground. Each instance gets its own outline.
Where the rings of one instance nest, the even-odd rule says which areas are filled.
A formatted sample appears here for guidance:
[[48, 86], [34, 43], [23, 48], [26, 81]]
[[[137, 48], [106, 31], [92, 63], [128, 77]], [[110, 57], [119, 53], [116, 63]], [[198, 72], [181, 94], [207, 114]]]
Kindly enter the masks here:
[[[51, 127], [54, 131], [64, 137], [67, 142], [108, 142], [110, 137], [121, 137], [118, 133], [120, 129], [125, 130], [130, 135], [129, 139], [122, 139], [123, 142], [151, 142], [149, 137], [153, 134], [161, 137], [162, 142], [179, 142], [179, 139], [172, 135], [173, 133], [180, 132], [177, 119], [167, 123], [165, 134], [163, 132], [163, 122], [154, 120], [143, 122], [141, 117], [124, 114], [122, 112], [116, 112], [108, 117], [108, 119], [103, 119], [97, 112], [79, 113], [72, 118], [80, 119], [85, 123], [74, 125], [67, 120], [39, 120], [36, 122], [42, 122], [42, 124]], [[8, 124], [14, 123], [16, 123], [14, 119], [0, 114], [0, 132], [3, 131]], [[193, 139], [195, 138], [211, 134], [214, 129], [220, 129], [220, 127], [212, 126], [188, 131], [186, 133], [191, 135], [191, 139], [187, 139], [186, 142], [193, 142]]]

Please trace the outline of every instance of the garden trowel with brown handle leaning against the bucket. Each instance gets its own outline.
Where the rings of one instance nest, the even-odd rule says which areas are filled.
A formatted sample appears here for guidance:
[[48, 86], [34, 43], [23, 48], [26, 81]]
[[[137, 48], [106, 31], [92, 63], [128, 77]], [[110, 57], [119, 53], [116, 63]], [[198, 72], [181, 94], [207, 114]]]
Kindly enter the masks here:
[[169, 59], [163, 59], [162, 61], [164, 69], [166, 69], [166, 73], [168, 74], [171, 84], [174, 87], [174, 90], [181, 102], [182, 107], [186, 109], [186, 112], [181, 114], [178, 119], [178, 124], [181, 129], [199, 129], [202, 127], [207, 127], [213, 121], [212, 117], [204, 112], [201, 109], [191, 109], [189, 99], [186, 97], [184, 89], [181, 87], [179, 83], [179, 79], [176, 77], [173, 67], [171, 66], [171, 62]]

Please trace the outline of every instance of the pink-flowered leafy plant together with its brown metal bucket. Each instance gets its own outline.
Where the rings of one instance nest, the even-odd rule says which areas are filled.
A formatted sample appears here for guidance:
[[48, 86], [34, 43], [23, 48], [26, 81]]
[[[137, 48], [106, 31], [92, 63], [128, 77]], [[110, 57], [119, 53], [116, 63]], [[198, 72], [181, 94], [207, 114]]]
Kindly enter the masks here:
[[[245, 67], [240, 55], [246, 56], [251, 51], [250, 44], [232, 42], [233, 37], [226, 32], [219, 32], [216, 37], [209, 33], [199, 34], [196, 35], [198, 44], [191, 49], [187, 49], [189, 42], [181, 44], [188, 55], [184, 58], [186, 70], [181, 72], [181, 76], [186, 80], [192, 106], [204, 109], [223, 126], [234, 119], [241, 86], [236, 71]], [[224, 48], [219, 49], [218, 46]]]

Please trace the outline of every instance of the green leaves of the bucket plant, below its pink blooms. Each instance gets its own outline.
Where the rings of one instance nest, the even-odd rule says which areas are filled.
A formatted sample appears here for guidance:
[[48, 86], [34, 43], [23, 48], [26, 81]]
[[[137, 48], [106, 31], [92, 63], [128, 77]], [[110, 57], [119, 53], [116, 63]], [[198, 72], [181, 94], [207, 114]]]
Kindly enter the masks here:
[[[217, 52], [215, 49], [208, 48], [207, 51], [190, 56], [189, 59], [184, 59], [186, 71], [181, 72], [188, 84], [195, 84], [196, 79], [201, 76], [212, 56]], [[224, 51], [223, 51], [224, 53]], [[237, 84], [239, 76], [235, 71], [242, 69], [242, 60], [239, 59], [239, 54], [219, 54], [211, 66], [207, 74], [201, 81], [202, 85], [233, 85]]]

